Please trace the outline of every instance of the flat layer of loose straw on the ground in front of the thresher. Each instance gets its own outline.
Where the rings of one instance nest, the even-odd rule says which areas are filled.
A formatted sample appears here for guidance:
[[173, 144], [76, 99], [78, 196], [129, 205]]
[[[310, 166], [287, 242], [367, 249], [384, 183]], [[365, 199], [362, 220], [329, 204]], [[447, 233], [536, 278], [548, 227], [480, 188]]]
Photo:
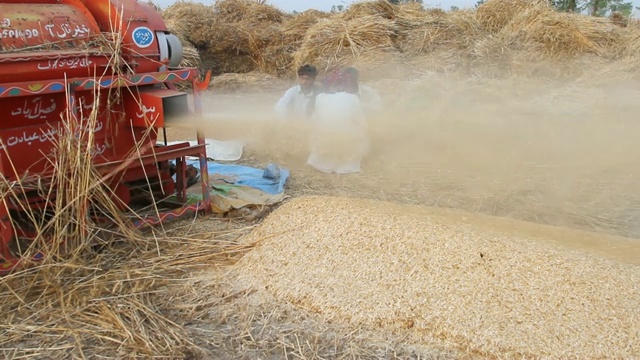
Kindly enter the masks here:
[[201, 349], [186, 325], [209, 299], [186, 283], [188, 274], [240, 250], [209, 237], [116, 237], [98, 251], [0, 279], [0, 354], [194, 358]]

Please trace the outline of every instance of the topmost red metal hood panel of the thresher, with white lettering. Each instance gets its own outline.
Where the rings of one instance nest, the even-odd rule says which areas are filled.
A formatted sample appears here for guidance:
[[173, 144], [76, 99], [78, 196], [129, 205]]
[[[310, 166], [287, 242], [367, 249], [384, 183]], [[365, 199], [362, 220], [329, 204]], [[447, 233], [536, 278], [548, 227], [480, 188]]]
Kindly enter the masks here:
[[2, 1], [0, 83], [104, 71], [109, 54], [91, 43], [98, 35], [98, 24], [78, 0], [30, 5]]

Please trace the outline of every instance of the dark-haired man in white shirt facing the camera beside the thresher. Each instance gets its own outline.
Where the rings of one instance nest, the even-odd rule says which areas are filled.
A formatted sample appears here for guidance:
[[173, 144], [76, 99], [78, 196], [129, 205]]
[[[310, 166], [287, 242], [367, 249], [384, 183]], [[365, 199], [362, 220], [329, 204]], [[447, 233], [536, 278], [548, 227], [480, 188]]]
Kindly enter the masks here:
[[313, 113], [320, 87], [315, 84], [317, 69], [304, 65], [298, 69], [298, 85], [288, 89], [275, 105], [280, 120], [306, 119]]

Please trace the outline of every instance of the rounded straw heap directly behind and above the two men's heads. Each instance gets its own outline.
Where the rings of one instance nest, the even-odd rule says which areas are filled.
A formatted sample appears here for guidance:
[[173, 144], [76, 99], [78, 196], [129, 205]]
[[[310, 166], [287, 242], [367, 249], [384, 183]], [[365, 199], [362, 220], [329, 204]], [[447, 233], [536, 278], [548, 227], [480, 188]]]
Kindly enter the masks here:
[[294, 53], [294, 67], [313, 63], [326, 71], [334, 66], [382, 64], [395, 54], [395, 31], [393, 21], [377, 15], [320, 20]]

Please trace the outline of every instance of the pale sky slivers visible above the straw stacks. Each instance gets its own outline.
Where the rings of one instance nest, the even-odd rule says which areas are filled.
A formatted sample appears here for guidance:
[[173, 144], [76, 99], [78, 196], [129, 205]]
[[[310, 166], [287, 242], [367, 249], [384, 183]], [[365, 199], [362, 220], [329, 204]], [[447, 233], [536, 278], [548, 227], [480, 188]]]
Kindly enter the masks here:
[[[165, 8], [173, 4], [175, 0], [154, 0], [154, 3]], [[214, 0], [198, 0], [198, 2], [204, 4], [213, 4]], [[354, 0], [269, 0], [268, 3], [274, 5], [284, 11], [304, 11], [307, 9], [318, 9], [328, 11], [332, 5], [344, 5], [347, 6]], [[452, 5], [457, 7], [470, 7], [476, 3], [476, 0], [425, 0], [425, 5], [429, 7], [440, 7], [442, 9], [449, 9]], [[640, 6], [640, 0], [633, 0], [635, 6]], [[637, 13], [637, 11], [636, 11]]]

